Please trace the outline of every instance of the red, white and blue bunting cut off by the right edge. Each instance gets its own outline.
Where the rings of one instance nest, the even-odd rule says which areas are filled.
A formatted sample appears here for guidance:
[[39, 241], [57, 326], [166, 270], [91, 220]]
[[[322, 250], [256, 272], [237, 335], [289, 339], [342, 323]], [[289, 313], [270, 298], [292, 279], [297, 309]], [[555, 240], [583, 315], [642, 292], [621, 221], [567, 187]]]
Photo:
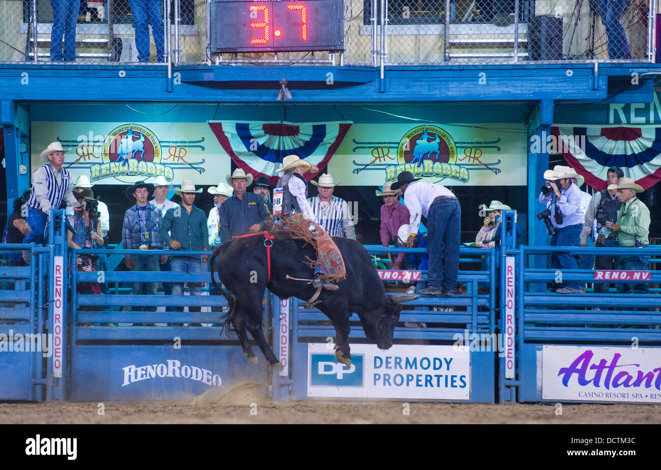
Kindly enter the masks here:
[[661, 180], [661, 127], [553, 126], [551, 135], [568, 142], [560, 153], [597, 190], [606, 188], [613, 166], [644, 189]]

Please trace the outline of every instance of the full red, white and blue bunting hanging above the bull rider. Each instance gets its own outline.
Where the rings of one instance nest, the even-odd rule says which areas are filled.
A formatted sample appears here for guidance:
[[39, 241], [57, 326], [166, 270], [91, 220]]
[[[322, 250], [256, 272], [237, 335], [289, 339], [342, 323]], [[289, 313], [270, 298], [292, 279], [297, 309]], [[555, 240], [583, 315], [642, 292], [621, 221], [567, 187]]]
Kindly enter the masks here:
[[[255, 179], [266, 176], [275, 185], [280, 178], [276, 169], [282, 167], [282, 159], [287, 155], [298, 155], [317, 165], [321, 173], [351, 123], [210, 121], [209, 126], [237, 167], [252, 173]], [[306, 180], [315, 176], [305, 173]]]

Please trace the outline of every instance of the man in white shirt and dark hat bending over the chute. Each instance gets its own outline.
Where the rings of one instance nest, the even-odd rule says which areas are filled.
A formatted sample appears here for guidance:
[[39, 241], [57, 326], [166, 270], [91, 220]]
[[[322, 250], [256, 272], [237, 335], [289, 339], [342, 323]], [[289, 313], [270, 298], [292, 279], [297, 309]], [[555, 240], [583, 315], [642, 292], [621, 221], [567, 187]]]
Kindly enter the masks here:
[[412, 247], [415, 242], [422, 216], [427, 218], [429, 274], [427, 288], [420, 290], [420, 294], [452, 297], [457, 292], [459, 274], [461, 206], [445, 186], [420, 182], [420, 179], [414, 178], [410, 171], [403, 171], [390, 187], [393, 191], [401, 190], [410, 212], [411, 234], [407, 247]]

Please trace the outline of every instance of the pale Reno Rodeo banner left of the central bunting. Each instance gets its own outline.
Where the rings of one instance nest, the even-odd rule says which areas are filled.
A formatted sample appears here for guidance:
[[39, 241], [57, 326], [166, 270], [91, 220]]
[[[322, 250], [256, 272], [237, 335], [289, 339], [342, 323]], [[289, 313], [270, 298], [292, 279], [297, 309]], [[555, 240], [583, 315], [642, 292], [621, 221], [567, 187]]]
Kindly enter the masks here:
[[206, 123], [33, 122], [32, 171], [39, 153], [59, 141], [70, 149], [63, 168], [92, 184], [133, 184], [164, 176], [178, 185], [217, 184], [229, 158]]

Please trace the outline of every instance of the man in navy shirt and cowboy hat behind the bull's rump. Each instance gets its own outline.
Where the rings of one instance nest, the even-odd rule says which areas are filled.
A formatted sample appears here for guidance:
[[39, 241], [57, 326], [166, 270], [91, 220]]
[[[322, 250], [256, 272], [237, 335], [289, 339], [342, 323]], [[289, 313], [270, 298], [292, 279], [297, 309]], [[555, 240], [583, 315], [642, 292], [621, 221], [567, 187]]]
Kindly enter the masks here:
[[233, 235], [239, 233], [260, 231], [264, 222], [273, 220], [266, 201], [253, 192], [246, 192], [246, 188], [253, 182], [253, 175], [246, 175], [245, 171], [237, 168], [225, 179], [234, 188], [234, 195], [223, 202], [220, 208], [218, 224], [222, 243], [228, 243]]

